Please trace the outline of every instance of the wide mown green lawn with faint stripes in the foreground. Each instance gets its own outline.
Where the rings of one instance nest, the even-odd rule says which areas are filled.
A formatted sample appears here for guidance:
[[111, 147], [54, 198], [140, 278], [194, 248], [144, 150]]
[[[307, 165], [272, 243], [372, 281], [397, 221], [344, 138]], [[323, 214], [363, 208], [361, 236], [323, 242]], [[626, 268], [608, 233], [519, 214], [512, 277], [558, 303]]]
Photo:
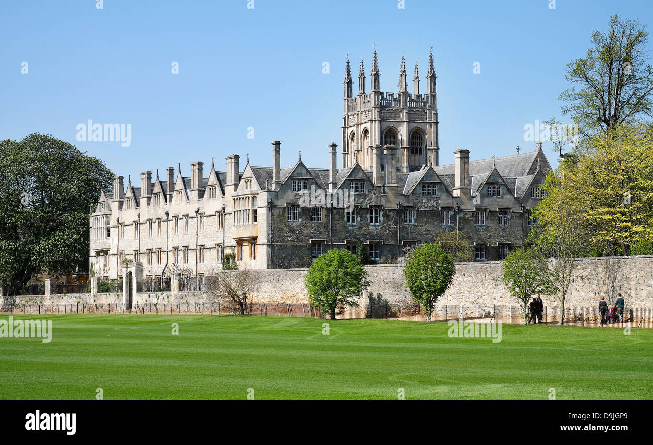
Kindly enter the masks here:
[[653, 398], [653, 330], [504, 324], [492, 343], [444, 322], [336, 320], [323, 335], [317, 318], [48, 318], [51, 343], [0, 338], [0, 399]]

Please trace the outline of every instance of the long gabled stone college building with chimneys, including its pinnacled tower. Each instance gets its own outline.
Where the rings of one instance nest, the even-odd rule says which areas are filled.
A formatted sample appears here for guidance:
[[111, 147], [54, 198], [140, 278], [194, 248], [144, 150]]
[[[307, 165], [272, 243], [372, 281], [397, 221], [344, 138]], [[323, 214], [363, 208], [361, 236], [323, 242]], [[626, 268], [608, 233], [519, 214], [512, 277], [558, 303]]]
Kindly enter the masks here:
[[534, 151], [470, 161], [468, 149], [454, 163], [438, 164], [436, 74], [430, 55], [427, 92], [407, 93], [402, 59], [399, 91], [381, 93], [376, 52], [372, 88], [352, 96], [345, 69], [342, 168], [336, 144], [328, 168], [308, 168], [301, 151], [281, 167], [281, 142], [272, 143], [272, 166], [252, 166], [228, 155], [225, 171], [193, 162], [142, 172], [140, 185], [114, 177], [90, 215], [90, 262], [96, 276], [116, 278], [125, 261], [140, 262], [145, 277], [171, 271], [208, 275], [223, 254], [254, 269], [310, 264], [329, 249], [356, 252], [360, 243], [377, 262], [396, 260], [409, 245], [432, 242], [442, 231], [462, 231], [476, 259], [500, 260], [528, 236], [529, 209], [542, 197], [551, 167]]

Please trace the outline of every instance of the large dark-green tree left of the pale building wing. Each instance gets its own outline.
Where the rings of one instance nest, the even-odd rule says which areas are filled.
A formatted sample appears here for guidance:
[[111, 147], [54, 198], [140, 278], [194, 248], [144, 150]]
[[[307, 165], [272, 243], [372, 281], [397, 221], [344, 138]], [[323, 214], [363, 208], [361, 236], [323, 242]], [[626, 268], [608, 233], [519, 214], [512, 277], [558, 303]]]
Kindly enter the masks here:
[[8, 295], [35, 273], [88, 271], [89, 210], [112, 173], [44, 134], [0, 142], [0, 283]]

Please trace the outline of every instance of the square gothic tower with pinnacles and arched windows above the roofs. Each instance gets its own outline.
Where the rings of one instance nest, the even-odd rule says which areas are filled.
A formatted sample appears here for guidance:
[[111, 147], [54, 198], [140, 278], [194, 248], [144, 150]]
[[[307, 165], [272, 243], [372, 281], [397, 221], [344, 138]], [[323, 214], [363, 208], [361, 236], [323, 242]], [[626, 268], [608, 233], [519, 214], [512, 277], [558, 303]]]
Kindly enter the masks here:
[[[382, 93], [376, 50], [372, 55], [370, 93], [365, 93], [365, 73], [360, 61], [358, 95], [353, 96], [349, 58], [345, 67], [345, 104], [342, 119], [342, 166], [358, 162], [372, 170], [374, 147], [389, 146], [400, 172], [419, 170], [424, 164], [438, 165], [438, 108], [433, 53], [428, 60], [426, 94], [420, 94], [419, 69], [415, 63], [414, 93], [408, 92], [406, 59], [402, 57], [397, 93]], [[392, 161], [392, 162], [390, 162]]]

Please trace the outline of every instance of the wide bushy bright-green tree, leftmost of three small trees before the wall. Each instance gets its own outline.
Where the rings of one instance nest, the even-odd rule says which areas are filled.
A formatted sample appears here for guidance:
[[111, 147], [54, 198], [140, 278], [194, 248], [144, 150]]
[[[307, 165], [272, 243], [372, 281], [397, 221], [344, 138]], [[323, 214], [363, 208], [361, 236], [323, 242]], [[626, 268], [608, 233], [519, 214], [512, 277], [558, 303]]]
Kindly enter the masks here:
[[331, 320], [342, 314], [345, 306], [355, 305], [368, 287], [367, 272], [346, 250], [328, 251], [306, 273], [308, 301], [313, 307], [321, 307]]

